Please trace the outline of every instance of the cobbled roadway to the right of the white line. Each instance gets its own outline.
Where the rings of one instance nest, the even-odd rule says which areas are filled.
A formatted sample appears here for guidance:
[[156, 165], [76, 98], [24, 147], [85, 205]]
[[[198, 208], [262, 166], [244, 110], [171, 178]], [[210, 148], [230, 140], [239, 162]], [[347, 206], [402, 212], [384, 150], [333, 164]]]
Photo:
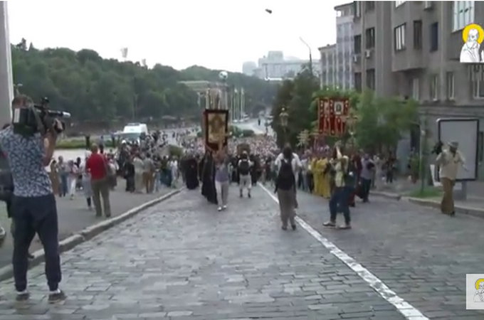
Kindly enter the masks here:
[[327, 201], [302, 192], [298, 201], [301, 218], [429, 319], [484, 319], [465, 310], [465, 274], [484, 273], [483, 220], [374, 197], [357, 203], [353, 229], [339, 232], [322, 227]]

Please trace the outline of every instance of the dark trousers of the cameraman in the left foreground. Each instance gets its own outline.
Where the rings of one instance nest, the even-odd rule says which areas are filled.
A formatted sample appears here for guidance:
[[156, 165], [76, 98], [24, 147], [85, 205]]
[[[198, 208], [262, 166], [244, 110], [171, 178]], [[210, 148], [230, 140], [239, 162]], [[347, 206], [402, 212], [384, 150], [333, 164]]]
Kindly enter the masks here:
[[38, 197], [14, 196], [11, 203], [14, 219], [14, 265], [15, 289], [27, 288], [28, 248], [38, 235], [46, 255], [46, 277], [51, 291], [61, 282], [61, 259], [59, 257], [58, 215], [53, 194]]

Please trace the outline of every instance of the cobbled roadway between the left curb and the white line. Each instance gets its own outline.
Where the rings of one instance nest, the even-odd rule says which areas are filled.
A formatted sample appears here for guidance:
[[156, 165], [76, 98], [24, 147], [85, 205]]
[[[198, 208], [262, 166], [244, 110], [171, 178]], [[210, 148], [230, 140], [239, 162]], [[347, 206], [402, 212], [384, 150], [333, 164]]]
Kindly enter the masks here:
[[43, 266], [31, 270], [28, 303], [0, 283], [0, 317], [404, 319], [305, 230], [280, 230], [261, 188], [230, 204], [218, 213], [184, 191], [66, 252], [63, 304], [47, 304]]

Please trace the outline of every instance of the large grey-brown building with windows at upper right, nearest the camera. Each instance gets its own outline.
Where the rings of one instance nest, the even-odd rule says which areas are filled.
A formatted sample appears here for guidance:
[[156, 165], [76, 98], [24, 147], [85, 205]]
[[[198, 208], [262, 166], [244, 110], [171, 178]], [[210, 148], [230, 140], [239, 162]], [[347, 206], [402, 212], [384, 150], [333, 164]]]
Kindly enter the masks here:
[[355, 88], [413, 97], [433, 139], [439, 117], [472, 116], [483, 123], [484, 81], [459, 62], [469, 23], [483, 26], [484, 2], [355, 1]]

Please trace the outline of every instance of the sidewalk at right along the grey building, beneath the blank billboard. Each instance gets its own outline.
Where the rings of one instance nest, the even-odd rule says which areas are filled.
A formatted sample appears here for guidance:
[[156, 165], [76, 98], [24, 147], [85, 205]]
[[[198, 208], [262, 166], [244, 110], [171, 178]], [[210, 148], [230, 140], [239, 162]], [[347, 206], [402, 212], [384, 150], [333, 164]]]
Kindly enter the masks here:
[[[394, 200], [404, 199], [411, 203], [440, 210], [441, 197], [435, 198], [412, 198], [408, 194], [410, 191], [419, 189], [420, 182], [411, 183], [404, 178], [401, 178], [394, 183], [382, 185], [379, 190], [373, 189], [372, 194], [376, 196], [384, 196]], [[431, 187], [428, 187], [431, 188]], [[484, 218], [484, 182], [469, 181], [468, 195], [465, 201], [455, 201], [456, 213], [466, 215], [473, 215], [478, 218]]]

